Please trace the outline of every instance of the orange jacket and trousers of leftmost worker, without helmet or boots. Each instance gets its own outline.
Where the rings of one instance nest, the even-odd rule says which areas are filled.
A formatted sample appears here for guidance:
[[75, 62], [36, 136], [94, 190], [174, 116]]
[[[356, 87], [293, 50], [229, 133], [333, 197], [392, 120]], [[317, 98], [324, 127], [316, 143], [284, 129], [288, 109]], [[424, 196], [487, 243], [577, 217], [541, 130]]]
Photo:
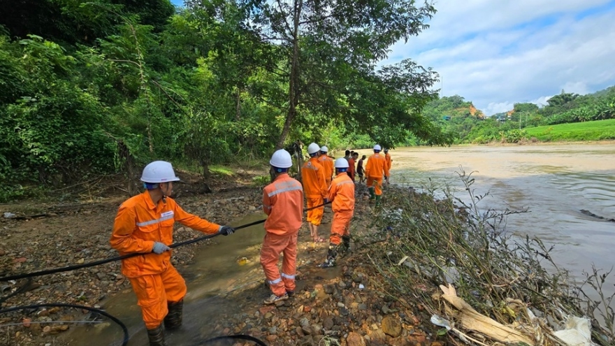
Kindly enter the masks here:
[[111, 247], [120, 255], [143, 253], [122, 259], [122, 274], [132, 284], [147, 329], [162, 323], [168, 313], [167, 303], [181, 301], [186, 295], [186, 283], [171, 265], [171, 251], [152, 253], [154, 242], [173, 243], [175, 221], [203, 233], [220, 229], [219, 224], [185, 212], [170, 197], [166, 197], [166, 203], [154, 205], [147, 191], [122, 203], [113, 224]]

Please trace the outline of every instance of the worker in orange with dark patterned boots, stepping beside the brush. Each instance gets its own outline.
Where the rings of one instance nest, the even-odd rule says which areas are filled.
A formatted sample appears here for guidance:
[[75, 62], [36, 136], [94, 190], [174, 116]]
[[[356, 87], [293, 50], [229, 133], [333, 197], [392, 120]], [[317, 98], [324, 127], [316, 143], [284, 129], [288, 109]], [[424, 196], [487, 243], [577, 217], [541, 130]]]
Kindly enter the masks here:
[[[333, 222], [331, 223], [331, 237], [327, 259], [320, 266], [328, 268], [335, 266], [335, 258], [340, 250], [350, 247], [350, 219], [354, 214], [354, 182], [347, 174], [348, 161], [344, 158], [335, 160], [335, 179], [331, 182], [328, 199], [333, 209]], [[341, 246], [344, 249], [340, 248]]]

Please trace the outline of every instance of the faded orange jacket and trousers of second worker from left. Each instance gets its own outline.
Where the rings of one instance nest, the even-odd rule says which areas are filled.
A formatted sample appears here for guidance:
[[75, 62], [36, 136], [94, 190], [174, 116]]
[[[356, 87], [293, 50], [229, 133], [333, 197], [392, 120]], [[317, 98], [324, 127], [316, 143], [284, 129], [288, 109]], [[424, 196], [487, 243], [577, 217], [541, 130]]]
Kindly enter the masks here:
[[[297, 263], [297, 236], [303, 219], [303, 188], [301, 183], [287, 173], [277, 175], [263, 190], [263, 211], [268, 215], [265, 222], [265, 239], [261, 247], [261, 266], [271, 291], [283, 296], [295, 290]], [[282, 274], [277, 269], [280, 254]]]

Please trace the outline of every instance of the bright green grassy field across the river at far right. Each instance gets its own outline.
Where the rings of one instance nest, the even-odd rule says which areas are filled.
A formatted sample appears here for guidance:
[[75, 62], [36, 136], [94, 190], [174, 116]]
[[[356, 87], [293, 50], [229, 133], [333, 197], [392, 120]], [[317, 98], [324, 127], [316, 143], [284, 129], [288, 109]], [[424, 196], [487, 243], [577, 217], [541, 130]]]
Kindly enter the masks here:
[[543, 142], [615, 139], [615, 119], [528, 127], [528, 136]]

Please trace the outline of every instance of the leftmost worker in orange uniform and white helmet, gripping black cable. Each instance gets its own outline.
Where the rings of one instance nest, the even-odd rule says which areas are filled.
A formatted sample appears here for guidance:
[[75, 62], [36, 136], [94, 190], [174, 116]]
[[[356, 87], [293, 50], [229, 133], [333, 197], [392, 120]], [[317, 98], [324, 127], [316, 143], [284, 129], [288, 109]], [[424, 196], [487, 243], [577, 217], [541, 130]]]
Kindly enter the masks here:
[[166, 161], [154, 161], [143, 169], [141, 181], [146, 191], [126, 200], [117, 210], [111, 247], [120, 255], [139, 253], [122, 259], [122, 274], [128, 277], [143, 313], [150, 346], [163, 346], [164, 331], [182, 324], [186, 284], [171, 264], [173, 223], [175, 221], [203, 233], [228, 236], [230, 226], [212, 224], [185, 212], [171, 196], [175, 176]]

